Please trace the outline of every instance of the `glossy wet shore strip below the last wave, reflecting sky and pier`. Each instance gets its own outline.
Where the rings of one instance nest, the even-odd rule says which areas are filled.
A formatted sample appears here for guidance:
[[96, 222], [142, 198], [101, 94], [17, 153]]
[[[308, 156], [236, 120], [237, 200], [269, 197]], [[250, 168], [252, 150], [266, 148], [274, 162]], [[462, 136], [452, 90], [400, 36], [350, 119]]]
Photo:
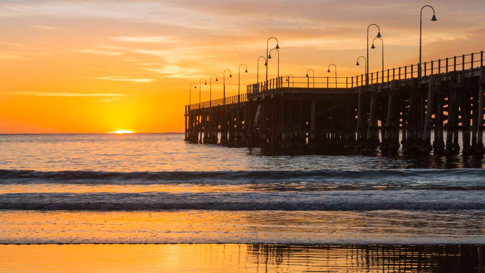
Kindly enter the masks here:
[[484, 266], [484, 245], [0, 245], [0, 272], [483, 273]]

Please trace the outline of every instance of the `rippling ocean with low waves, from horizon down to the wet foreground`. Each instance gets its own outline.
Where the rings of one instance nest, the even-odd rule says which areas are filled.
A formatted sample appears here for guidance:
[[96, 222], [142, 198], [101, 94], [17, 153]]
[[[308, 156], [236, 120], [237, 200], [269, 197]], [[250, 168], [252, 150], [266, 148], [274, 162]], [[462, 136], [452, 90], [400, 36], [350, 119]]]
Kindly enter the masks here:
[[[213, 256], [219, 267], [207, 272], [394, 272], [401, 262], [405, 272], [484, 271], [483, 160], [284, 154], [183, 138], [0, 135], [0, 272], [29, 272], [12, 265], [29, 254], [37, 272], [52, 269], [41, 257], [63, 247]], [[205, 272], [191, 266], [178, 272]]]

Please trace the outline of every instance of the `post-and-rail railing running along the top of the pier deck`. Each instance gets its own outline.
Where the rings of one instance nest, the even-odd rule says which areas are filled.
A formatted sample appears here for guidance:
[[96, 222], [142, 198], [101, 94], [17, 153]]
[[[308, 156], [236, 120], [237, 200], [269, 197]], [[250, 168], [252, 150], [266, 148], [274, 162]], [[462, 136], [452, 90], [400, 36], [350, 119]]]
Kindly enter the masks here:
[[[209, 108], [213, 106], [221, 106], [226, 104], [246, 102], [251, 94], [260, 92], [269, 92], [273, 90], [281, 90], [282, 88], [320, 88], [323, 91], [338, 88], [352, 88], [361, 85], [386, 84], [392, 80], [399, 80], [400, 83], [408, 83], [409, 79], [418, 78], [419, 82], [427, 81], [427, 77], [431, 74], [445, 74], [449, 79], [449, 72], [470, 70], [470, 75], [473, 76], [474, 69], [484, 65], [484, 51], [477, 53], [463, 54], [460, 56], [452, 56], [443, 59], [424, 62], [423, 64], [411, 64], [409, 66], [388, 68], [384, 70], [376, 70], [369, 72], [369, 74], [360, 74], [352, 77], [332, 77], [332, 76], [286, 76], [260, 83], [246, 85], [246, 93], [241, 95], [234, 95], [226, 98], [193, 103], [189, 105], [190, 110]], [[420, 69], [421, 67], [421, 69]]]

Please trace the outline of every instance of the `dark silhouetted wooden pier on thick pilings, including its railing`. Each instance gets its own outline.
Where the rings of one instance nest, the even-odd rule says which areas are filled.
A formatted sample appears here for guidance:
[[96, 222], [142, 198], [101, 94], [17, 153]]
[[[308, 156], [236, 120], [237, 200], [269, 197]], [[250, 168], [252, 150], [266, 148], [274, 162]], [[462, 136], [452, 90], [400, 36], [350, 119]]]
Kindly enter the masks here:
[[461, 148], [483, 157], [483, 51], [425, 62], [421, 75], [418, 67], [247, 85], [240, 96], [186, 105], [185, 140], [283, 149], [380, 147], [383, 154], [396, 154], [400, 145], [407, 154], [453, 155]]

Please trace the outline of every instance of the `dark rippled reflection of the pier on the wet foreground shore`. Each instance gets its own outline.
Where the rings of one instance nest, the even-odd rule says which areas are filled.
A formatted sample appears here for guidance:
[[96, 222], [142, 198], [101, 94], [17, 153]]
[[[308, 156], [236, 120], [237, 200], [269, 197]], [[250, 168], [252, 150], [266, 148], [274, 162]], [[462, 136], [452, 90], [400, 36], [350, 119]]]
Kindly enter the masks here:
[[259, 272], [484, 271], [484, 246], [476, 245], [248, 245]]

